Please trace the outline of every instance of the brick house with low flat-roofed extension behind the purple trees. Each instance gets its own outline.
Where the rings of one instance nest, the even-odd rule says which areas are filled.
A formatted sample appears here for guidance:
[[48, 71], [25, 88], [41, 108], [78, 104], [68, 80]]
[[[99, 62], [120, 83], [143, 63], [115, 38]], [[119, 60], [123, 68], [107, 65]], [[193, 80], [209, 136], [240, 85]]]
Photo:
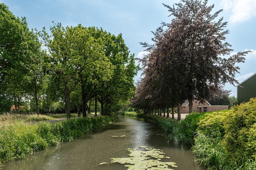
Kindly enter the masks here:
[[[189, 113], [189, 102], [186, 101], [182, 103], [181, 105], [181, 113], [188, 114]], [[213, 111], [222, 111], [222, 110], [227, 110], [228, 106], [212, 106], [208, 101], [205, 103], [201, 103], [198, 100], [193, 100], [193, 108], [192, 112], [213, 112]]]

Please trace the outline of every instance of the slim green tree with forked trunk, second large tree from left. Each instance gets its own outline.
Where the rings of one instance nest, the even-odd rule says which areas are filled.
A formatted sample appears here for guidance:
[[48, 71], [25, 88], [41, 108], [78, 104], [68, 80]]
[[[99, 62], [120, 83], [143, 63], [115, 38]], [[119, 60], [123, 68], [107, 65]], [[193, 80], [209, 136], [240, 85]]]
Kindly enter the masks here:
[[70, 93], [79, 83], [78, 53], [74, 50], [79, 37], [75, 36], [73, 27], [64, 28], [60, 23], [53, 23], [50, 34], [43, 28], [40, 36], [48, 50], [45, 54], [48, 56], [48, 69], [62, 80], [65, 91], [65, 110], [67, 118], [70, 118]]

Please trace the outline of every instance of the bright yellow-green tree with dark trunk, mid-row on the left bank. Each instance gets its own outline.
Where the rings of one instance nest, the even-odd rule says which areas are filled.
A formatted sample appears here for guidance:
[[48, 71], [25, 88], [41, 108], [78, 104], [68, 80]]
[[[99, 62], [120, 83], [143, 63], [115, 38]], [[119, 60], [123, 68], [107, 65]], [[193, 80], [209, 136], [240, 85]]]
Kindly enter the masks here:
[[114, 66], [105, 52], [105, 42], [110, 34], [102, 29], [86, 28], [80, 24], [76, 27], [76, 32], [79, 39], [75, 50], [79, 56], [82, 115], [86, 117], [87, 102], [105, 88], [106, 83], [112, 78]]

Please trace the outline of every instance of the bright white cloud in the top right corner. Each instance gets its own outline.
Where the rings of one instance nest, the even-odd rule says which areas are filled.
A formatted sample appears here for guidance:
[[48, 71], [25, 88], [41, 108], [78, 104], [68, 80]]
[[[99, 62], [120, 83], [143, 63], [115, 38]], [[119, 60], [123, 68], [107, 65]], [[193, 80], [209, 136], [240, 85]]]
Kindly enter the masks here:
[[221, 4], [225, 10], [231, 9], [231, 23], [243, 22], [256, 16], [255, 0], [222, 0]]

